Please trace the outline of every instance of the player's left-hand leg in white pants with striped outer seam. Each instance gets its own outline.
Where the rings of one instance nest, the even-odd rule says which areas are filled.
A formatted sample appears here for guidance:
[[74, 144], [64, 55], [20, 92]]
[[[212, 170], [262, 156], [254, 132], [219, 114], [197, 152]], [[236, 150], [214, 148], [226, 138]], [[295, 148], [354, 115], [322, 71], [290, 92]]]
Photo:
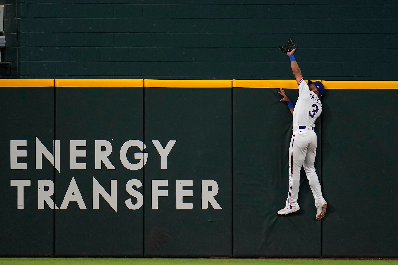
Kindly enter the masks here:
[[278, 214], [298, 211], [298, 190], [300, 188], [300, 170], [306, 156], [306, 135], [293, 131], [289, 148], [289, 191], [286, 206]]

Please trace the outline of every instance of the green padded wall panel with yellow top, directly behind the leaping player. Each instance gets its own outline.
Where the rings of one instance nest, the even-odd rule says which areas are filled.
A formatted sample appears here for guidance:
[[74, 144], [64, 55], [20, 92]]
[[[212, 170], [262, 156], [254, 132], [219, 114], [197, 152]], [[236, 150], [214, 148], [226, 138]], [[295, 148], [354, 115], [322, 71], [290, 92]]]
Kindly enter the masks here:
[[[298, 214], [279, 216], [289, 184], [292, 114], [279, 102], [279, 89], [296, 81], [233, 82], [233, 255], [234, 257], [321, 257], [321, 222], [304, 170], [300, 174]], [[298, 89], [285, 90], [296, 102]], [[322, 117], [322, 116], [321, 116]], [[316, 121], [321, 172], [320, 119]]]

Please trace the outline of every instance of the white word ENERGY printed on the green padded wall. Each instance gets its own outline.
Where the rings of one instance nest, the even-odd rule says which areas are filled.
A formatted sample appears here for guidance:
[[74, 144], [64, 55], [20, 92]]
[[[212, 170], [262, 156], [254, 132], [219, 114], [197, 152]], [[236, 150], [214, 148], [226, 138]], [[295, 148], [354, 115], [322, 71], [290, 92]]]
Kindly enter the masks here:
[[[170, 140], [163, 148], [162, 144], [158, 140], [152, 140], [152, 144], [160, 155], [160, 169], [167, 169], [167, 157], [172, 150], [176, 140]], [[32, 144], [32, 143], [31, 143]], [[18, 157], [26, 157], [26, 147], [28, 145], [27, 140], [10, 140], [10, 168], [15, 170], [27, 169], [27, 163], [18, 162]], [[76, 162], [77, 157], [86, 157], [86, 150], [82, 150], [86, 146], [86, 140], [70, 140], [69, 141], [69, 169], [86, 169], [86, 163]], [[25, 149], [24, 149], [25, 147]], [[79, 149], [78, 149], [79, 147]], [[127, 159], [127, 150], [130, 148], [139, 149], [141, 152], [134, 153], [134, 159], [139, 159], [138, 162], [129, 161]], [[138, 147], [138, 148], [137, 148]], [[146, 148], [146, 145], [140, 140], [132, 139], [126, 141], [120, 148], [119, 157], [123, 166], [129, 170], [141, 169], [148, 160], [148, 153], [142, 152]], [[103, 150], [104, 149], [104, 150]], [[51, 162], [53, 166], [60, 172], [60, 140], [54, 141], [54, 155], [41, 143], [36, 137], [35, 141], [35, 153], [36, 153], [36, 169], [42, 169], [43, 156]], [[112, 153], [112, 144], [107, 140], [95, 140], [95, 169], [102, 169], [102, 164], [107, 169], [116, 169], [112, 162], [109, 160], [109, 155]]]

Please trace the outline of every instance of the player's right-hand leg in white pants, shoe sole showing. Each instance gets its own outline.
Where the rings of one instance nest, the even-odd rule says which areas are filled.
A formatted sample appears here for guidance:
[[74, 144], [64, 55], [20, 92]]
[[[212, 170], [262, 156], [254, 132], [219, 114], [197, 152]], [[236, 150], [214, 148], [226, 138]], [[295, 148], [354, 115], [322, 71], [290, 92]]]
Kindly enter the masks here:
[[315, 199], [315, 207], [318, 210], [316, 219], [322, 219], [325, 215], [325, 210], [326, 207], [328, 207], [328, 205], [322, 195], [321, 185], [319, 183], [318, 175], [315, 172], [314, 163], [316, 156], [316, 145], [317, 145], [317, 137], [315, 133], [312, 133], [311, 141], [310, 144], [308, 145], [303, 166], [312, 190], [312, 195], [314, 196]]

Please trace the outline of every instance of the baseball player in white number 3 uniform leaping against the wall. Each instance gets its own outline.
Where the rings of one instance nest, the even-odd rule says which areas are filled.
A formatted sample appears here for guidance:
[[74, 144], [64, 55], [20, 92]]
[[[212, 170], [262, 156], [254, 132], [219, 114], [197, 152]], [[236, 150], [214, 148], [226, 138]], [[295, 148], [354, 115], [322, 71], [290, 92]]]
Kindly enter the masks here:
[[278, 93], [283, 96], [280, 101], [285, 101], [289, 105], [290, 112], [293, 114], [293, 135], [289, 148], [289, 193], [285, 208], [278, 211], [279, 215], [287, 215], [300, 210], [297, 203], [298, 189], [300, 187], [300, 170], [304, 166], [312, 194], [315, 199], [316, 220], [321, 220], [325, 216], [326, 203], [322, 196], [321, 186], [318, 175], [315, 172], [314, 162], [316, 154], [317, 137], [314, 132], [314, 122], [322, 112], [320, 96], [325, 89], [320, 81], [308, 80], [308, 85], [301, 75], [295, 56], [295, 49], [287, 52], [293, 74], [298, 84], [298, 100], [296, 106], [286, 96], [283, 89]]

